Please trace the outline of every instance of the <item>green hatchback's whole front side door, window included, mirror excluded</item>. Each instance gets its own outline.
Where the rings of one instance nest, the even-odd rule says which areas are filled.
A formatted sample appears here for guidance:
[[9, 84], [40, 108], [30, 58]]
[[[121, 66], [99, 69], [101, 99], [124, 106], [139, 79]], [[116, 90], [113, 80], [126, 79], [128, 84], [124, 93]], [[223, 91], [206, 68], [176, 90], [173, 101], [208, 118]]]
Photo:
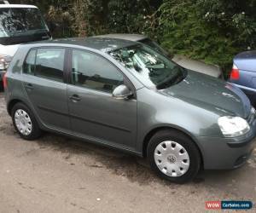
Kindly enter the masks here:
[[100, 55], [73, 49], [72, 84], [67, 86], [71, 126], [75, 135], [111, 146], [134, 149], [137, 100], [116, 100], [113, 89], [125, 77]]

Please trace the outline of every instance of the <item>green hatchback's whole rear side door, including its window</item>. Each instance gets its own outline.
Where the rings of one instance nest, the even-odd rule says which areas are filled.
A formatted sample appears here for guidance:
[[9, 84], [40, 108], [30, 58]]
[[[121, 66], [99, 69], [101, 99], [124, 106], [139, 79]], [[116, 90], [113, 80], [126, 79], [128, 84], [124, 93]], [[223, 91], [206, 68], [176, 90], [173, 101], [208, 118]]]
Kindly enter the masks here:
[[23, 66], [26, 94], [41, 121], [51, 129], [70, 128], [65, 80], [66, 49], [32, 49]]

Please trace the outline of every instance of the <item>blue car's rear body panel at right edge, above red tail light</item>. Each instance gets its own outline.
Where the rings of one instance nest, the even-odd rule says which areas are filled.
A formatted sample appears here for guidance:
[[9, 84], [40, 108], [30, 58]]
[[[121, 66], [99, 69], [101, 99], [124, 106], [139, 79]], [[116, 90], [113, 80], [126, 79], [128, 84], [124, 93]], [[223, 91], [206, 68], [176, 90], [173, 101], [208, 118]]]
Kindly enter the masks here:
[[256, 72], [256, 50], [236, 55], [234, 63], [240, 70]]

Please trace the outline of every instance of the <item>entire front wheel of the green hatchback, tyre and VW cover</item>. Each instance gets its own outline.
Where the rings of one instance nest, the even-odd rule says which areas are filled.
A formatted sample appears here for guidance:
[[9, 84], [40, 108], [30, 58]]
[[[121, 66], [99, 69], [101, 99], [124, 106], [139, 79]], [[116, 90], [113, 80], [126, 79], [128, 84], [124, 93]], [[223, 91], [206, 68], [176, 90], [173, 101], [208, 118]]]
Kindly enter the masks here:
[[175, 183], [191, 181], [201, 168], [195, 142], [177, 130], [161, 130], [148, 142], [148, 162], [161, 178]]

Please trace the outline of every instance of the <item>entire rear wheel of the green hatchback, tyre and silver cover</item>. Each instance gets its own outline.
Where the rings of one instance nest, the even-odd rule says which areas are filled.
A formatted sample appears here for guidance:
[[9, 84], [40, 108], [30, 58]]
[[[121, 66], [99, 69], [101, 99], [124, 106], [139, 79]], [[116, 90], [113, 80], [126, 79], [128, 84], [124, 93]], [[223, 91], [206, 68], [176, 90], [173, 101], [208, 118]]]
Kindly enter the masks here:
[[11, 115], [15, 130], [21, 138], [32, 141], [38, 139], [42, 134], [36, 118], [25, 104], [21, 102], [15, 104], [12, 108]]

